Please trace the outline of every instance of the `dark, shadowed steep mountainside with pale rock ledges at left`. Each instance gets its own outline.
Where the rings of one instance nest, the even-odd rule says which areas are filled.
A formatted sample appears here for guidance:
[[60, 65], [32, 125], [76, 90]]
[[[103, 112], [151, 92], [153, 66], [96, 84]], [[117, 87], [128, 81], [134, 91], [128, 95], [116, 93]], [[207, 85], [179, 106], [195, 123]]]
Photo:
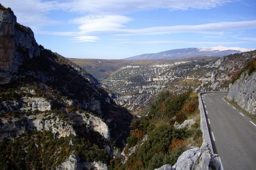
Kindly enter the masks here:
[[0, 5], [0, 169], [106, 169], [133, 116], [101, 86]]

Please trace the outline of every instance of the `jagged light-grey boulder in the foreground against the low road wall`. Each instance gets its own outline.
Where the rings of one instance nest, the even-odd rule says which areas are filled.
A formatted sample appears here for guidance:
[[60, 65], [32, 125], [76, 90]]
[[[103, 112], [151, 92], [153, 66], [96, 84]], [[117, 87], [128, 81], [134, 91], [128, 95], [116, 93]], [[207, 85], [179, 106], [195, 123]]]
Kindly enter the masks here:
[[193, 148], [183, 152], [176, 164], [164, 165], [156, 170], [219, 170], [221, 164], [217, 154], [211, 154], [207, 143], [200, 148]]

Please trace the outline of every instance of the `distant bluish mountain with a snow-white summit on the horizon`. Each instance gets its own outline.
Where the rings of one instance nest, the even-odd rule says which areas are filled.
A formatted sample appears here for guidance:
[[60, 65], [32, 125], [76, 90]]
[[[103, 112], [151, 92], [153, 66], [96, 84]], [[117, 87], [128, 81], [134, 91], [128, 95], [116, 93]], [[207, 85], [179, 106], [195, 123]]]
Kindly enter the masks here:
[[222, 57], [234, 53], [242, 53], [252, 51], [254, 49], [244, 49], [239, 47], [209, 47], [209, 48], [186, 48], [173, 49], [160, 53], [142, 54], [134, 57], [129, 57], [124, 60], [157, 60], [157, 59], [186, 59], [192, 57]]

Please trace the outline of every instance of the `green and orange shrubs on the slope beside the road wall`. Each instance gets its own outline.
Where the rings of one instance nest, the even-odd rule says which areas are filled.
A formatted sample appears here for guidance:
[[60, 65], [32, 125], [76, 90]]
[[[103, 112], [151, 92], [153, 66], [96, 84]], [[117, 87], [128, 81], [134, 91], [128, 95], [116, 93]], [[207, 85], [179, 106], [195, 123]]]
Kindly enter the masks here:
[[[186, 92], [176, 95], [168, 91], [161, 92], [151, 102], [148, 116], [132, 121], [131, 135], [127, 139], [126, 147], [131, 148], [140, 144], [146, 135], [148, 136], [147, 140], [129, 156], [125, 164], [116, 158], [112, 160], [113, 164], [108, 168], [154, 170], [163, 164], [173, 165], [180, 154], [187, 150], [187, 145], [190, 143], [189, 138], [199, 145], [202, 143], [200, 142], [202, 133], [198, 122], [191, 129], [176, 129], [173, 125], [175, 121], [182, 123], [188, 117], [196, 116], [197, 112], [197, 94]], [[128, 154], [127, 149], [125, 149], [125, 153]]]

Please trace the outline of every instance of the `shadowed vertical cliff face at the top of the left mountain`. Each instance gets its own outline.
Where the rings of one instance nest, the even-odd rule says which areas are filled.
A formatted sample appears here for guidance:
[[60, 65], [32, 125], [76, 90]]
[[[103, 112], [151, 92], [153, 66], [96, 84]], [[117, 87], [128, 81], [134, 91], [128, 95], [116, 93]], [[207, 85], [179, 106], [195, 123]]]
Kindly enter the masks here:
[[0, 11], [0, 84], [9, 83], [15, 77], [24, 60], [23, 52], [29, 58], [40, 55], [33, 31], [18, 24], [12, 12]]

